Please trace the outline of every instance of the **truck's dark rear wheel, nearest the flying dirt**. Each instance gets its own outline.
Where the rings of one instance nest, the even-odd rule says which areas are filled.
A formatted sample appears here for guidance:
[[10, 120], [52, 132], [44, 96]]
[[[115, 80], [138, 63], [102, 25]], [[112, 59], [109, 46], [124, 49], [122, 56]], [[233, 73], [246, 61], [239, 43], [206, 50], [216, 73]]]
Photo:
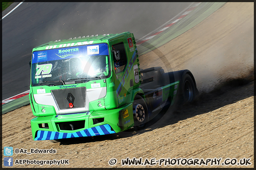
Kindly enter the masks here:
[[192, 102], [196, 97], [196, 87], [189, 74], [185, 74], [182, 80], [182, 102]]

